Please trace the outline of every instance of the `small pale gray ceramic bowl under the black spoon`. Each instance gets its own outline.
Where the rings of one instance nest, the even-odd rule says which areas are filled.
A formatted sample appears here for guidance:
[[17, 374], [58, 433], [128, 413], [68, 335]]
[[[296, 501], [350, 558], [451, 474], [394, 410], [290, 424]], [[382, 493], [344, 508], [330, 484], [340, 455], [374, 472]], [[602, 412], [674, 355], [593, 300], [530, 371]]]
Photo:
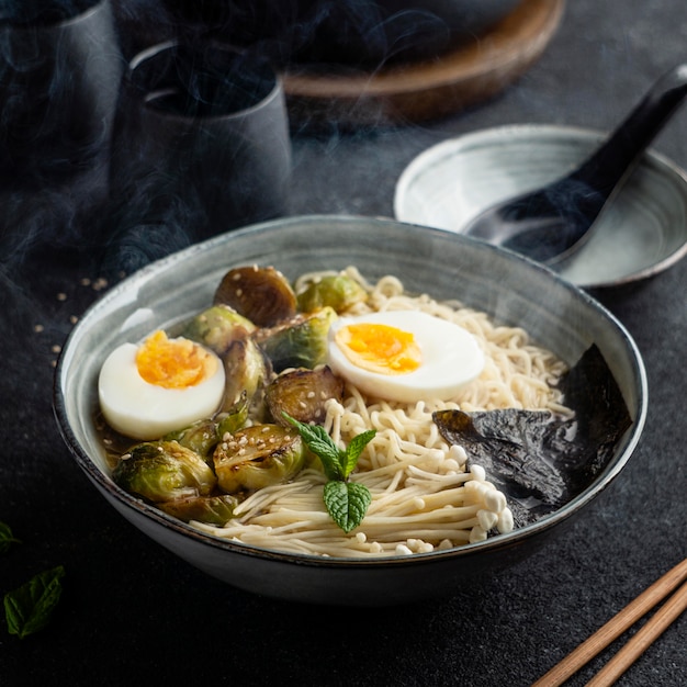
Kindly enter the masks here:
[[[417, 156], [396, 184], [394, 214], [404, 222], [460, 233], [482, 210], [566, 174], [605, 134], [558, 125], [488, 128]], [[589, 241], [558, 269], [584, 288], [635, 282], [687, 252], [687, 174], [647, 151]]]

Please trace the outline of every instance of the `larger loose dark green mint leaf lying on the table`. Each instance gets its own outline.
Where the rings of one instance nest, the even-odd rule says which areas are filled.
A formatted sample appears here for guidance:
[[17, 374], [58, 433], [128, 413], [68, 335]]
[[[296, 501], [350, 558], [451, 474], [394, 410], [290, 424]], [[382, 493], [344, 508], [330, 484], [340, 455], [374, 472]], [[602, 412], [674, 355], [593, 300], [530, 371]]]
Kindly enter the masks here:
[[42, 630], [50, 619], [61, 595], [61, 565], [32, 577], [14, 592], [4, 595], [4, 616], [10, 634], [20, 639]]

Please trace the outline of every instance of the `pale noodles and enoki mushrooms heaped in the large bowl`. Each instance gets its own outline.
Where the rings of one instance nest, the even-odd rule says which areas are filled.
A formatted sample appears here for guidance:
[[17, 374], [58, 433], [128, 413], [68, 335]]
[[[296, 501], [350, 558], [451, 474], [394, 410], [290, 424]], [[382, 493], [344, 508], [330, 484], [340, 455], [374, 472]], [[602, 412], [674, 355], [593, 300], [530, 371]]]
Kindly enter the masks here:
[[[423, 313], [458, 325], [470, 333], [483, 354], [478, 376], [452, 398], [432, 397], [428, 392], [414, 401], [375, 397], [345, 380], [342, 398], [326, 404], [323, 426], [337, 443], [376, 430], [352, 475], [370, 489], [372, 500], [363, 521], [349, 534], [327, 514], [323, 504], [327, 480], [314, 465], [285, 484], [249, 494], [223, 526], [192, 523], [222, 539], [335, 558], [425, 553], [510, 531], [514, 525], [506, 496], [483, 469], [466, 466], [462, 448], [441, 438], [432, 412], [527, 408], [568, 413], [556, 390], [564, 363], [532, 342], [523, 329], [497, 325], [485, 313], [458, 302], [408, 294], [393, 275], [369, 283], [353, 268], [345, 273], [368, 293], [364, 302], [347, 309], [347, 317]], [[303, 275], [295, 292], [320, 277]]]

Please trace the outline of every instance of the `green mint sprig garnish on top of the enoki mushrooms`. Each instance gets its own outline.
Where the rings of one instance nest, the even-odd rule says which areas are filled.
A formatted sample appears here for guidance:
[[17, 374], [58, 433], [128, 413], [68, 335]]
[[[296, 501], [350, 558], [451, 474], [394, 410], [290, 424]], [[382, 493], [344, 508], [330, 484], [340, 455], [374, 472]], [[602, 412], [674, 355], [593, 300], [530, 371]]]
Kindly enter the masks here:
[[339, 449], [324, 427], [305, 425], [288, 413], [282, 413], [286, 420], [299, 430], [307, 448], [322, 461], [325, 475], [323, 498], [331, 519], [348, 534], [365, 517], [372, 503], [370, 489], [358, 482], [349, 482], [358, 459], [372, 437], [376, 433], [369, 429], [351, 439], [346, 449]]

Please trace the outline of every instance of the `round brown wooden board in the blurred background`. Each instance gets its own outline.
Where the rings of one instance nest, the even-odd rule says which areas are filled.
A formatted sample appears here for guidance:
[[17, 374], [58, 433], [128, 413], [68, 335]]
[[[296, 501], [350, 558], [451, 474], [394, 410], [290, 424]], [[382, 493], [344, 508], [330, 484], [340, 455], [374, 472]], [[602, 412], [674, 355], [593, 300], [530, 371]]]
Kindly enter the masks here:
[[295, 128], [396, 125], [446, 116], [483, 102], [520, 77], [543, 53], [565, 0], [523, 0], [478, 41], [432, 61], [374, 74], [323, 74], [306, 67], [283, 75]]

